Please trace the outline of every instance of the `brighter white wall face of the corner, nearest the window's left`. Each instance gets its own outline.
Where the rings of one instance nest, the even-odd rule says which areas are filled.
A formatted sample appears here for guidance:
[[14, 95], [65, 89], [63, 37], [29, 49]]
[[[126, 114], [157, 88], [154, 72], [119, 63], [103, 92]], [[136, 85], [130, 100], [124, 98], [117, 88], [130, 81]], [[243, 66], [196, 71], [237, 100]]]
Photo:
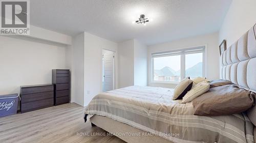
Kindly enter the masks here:
[[147, 85], [147, 46], [134, 40], [134, 85]]

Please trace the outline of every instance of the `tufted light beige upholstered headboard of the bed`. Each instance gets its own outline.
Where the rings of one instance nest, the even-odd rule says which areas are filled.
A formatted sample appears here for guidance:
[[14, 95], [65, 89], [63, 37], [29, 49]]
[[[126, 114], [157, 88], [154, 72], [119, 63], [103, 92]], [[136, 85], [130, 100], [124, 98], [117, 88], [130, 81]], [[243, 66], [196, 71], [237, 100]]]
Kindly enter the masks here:
[[256, 24], [221, 54], [221, 79], [256, 91]]

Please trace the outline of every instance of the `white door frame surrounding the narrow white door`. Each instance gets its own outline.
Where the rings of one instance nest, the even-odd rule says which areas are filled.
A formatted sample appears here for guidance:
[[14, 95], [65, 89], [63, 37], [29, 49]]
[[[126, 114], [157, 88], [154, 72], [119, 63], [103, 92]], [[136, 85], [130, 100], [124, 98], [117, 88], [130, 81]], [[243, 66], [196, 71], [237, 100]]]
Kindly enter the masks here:
[[103, 91], [103, 88], [102, 88], [102, 78], [103, 78], [103, 72], [102, 72], [102, 66], [103, 66], [103, 62], [102, 62], [102, 54], [103, 54], [103, 50], [108, 50], [108, 51], [112, 51], [112, 52], [114, 52], [114, 56], [115, 56], [115, 58], [114, 58], [114, 68], [113, 68], [113, 72], [114, 72], [114, 75], [113, 75], [113, 77], [114, 77], [114, 83], [113, 83], [113, 88], [114, 88], [114, 90], [116, 89], [116, 67], [117, 67], [117, 65], [116, 65], [116, 63], [117, 63], [117, 56], [116, 56], [116, 51], [115, 50], [112, 50], [112, 49], [108, 49], [108, 48], [104, 48], [104, 47], [102, 47], [101, 48], [101, 50], [100, 50], [100, 92], [102, 93]]

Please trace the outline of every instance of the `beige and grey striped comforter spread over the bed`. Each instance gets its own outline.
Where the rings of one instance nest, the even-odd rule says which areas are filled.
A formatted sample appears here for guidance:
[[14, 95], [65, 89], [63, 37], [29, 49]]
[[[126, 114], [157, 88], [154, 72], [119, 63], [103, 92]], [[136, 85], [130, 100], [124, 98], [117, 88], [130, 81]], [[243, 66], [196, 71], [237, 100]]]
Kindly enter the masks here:
[[192, 103], [173, 101], [173, 92], [132, 86], [101, 93], [86, 107], [85, 118], [105, 116], [172, 142], [254, 142], [246, 114], [194, 116]]

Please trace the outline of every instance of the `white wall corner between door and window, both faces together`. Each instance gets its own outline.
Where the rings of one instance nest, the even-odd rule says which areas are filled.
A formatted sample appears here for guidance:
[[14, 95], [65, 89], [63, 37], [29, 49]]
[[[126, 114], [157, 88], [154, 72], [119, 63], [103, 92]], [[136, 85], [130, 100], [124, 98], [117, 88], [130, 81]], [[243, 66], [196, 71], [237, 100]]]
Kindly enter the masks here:
[[119, 88], [147, 85], [147, 46], [132, 39], [118, 43]]

